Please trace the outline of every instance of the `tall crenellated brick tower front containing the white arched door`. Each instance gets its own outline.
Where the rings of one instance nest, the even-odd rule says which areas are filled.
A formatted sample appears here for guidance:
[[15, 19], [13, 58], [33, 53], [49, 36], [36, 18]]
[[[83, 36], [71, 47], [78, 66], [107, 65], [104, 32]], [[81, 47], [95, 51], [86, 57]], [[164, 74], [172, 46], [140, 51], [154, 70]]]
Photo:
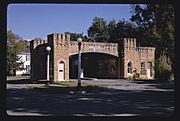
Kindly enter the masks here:
[[[50, 60], [50, 80], [63, 81], [69, 80], [69, 34], [50, 34], [47, 35], [48, 43], [51, 47]], [[63, 71], [62, 74], [59, 74]], [[61, 77], [58, 75], [61, 75]]]

